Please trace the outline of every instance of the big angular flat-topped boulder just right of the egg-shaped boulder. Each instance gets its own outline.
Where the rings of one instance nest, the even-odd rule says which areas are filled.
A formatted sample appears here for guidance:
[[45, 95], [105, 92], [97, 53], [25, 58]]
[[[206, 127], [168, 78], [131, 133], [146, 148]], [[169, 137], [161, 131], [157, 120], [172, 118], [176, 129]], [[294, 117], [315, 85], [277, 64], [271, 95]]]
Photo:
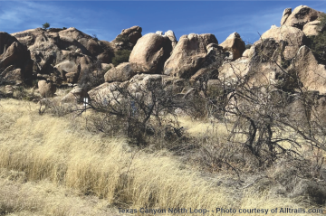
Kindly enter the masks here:
[[218, 43], [214, 34], [190, 33], [181, 36], [177, 46], [164, 65], [164, 74], [178, 77], [190, 78], [203, 65], [209, 43]]

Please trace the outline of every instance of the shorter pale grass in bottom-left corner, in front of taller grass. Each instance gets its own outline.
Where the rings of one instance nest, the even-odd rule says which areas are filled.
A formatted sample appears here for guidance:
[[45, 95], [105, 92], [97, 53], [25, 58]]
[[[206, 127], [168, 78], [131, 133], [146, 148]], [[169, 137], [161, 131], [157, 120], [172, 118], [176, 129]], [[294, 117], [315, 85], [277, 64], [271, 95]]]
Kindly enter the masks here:
[[0, 215], [117, 215], [108, 202], [48, 181], [25, 183], [24, 172], [0, 169]]

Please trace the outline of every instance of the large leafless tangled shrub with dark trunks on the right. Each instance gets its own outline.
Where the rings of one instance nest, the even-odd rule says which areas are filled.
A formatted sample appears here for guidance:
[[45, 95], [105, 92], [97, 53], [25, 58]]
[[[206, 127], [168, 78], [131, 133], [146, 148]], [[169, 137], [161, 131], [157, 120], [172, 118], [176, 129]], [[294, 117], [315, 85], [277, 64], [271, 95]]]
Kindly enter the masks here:
[[[282, 44], [266, 42], [276, 50], [282, 48]], [[206, 112], [218, 113], [223, 122], [233, 125], [225, 145], [242, 146], [257, 160], [259, 169], [283, 157], [301, 160], [302, 147], [326, 150], [325, 127], [313, 108], [318, 96], [302, 85], [293, 66], [284, 69], [271, 53], [258, 49], [245, 76], [234, 71], [234, 80], [220, 80], [217, 89], [202, 88], [209, 108]], [[257, 70], [262, 62], [282, 70], [280, 80], [253, 83], [253, 77], [266, 78], [264, 71]]]

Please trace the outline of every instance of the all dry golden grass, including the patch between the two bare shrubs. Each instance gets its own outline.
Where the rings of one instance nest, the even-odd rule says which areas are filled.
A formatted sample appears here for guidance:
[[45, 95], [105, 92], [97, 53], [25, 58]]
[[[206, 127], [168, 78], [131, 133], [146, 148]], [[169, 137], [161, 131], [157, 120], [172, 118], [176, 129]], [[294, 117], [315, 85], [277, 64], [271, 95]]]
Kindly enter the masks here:
[[[37, 108], [25, 100], [1, 100], [2, 214], [113, 215], [119, 213], [118, 208], [302, 207], [302, 198], [267, 193], [273, 181], [285, 178], [284, 164], [267, 169], [264, 176], [254, 175], [255, 179], [247, 175], [249, 181], [243, 176], [244, 183], [238, 185], [231, 169], [203, 157], [221, 147], [214, 141], [225, 137], [225, 125], [216, 130], [212, 122], [181, 117], [188, 136], [197, 137], [197, 153], [189, 148], [186, 155], [180, 155], [166, 148], [130, 146], [123, 136], [95, 134], [86, 123], [91, 111], [81, 117], [56, 117], [51, 113], [41, 116]], [[236, 150], [233, 146], [227, 149]], [[250, 182], [258, 186], [253, 188]]]

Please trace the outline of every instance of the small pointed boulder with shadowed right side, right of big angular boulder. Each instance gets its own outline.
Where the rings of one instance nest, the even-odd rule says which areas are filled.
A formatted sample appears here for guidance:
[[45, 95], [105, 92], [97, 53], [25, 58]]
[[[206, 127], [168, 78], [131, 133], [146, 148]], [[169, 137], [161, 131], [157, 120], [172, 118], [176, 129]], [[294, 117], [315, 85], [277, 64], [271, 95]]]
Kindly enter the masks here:
[[220, 46], [223, 47], [224, 52], [231, 52], [232, 61], [239, 59], [245, 52], [245, 42], [239, 33], [231, 33]]

